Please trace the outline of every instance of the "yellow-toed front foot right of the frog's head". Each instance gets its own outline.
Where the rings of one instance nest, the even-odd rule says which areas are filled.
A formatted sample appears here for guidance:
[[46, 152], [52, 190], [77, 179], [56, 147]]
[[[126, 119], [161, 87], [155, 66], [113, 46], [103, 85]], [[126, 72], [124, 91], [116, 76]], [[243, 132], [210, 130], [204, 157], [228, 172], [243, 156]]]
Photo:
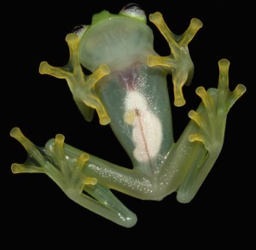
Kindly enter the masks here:
[[184, 84], [190, 83], [194, 73], [194, 65], [189, 55], [188, 44], [201, 28], [201, 20], [193, 18], [189, 28], [179, 36], [170, 31], [159, 12], [149, 15], [149, 20], [157, 26], [164, 38], [166, 38], [171, 49], [171, 55], [149, 55], [148, 66], [165, 67], [167, 72], [172, 74], [174, 105], [177, 107], [183, 106], [185, 99], [182, 88]]

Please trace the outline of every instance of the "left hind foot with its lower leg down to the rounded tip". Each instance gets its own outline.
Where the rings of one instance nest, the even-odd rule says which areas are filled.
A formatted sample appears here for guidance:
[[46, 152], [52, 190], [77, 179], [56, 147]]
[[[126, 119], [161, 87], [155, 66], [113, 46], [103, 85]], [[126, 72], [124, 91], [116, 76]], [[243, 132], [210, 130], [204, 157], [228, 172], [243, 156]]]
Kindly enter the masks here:
[[79, 154], [67, 154], [68, 145], [64, 143], [63, 135], [56, 135], [44, 148], [40, 148], [28, 140], [17, 127], [10, 134], [28, 153], [24, 164], [14, 163], [11, 166], [12, 172], [45, 173], [80, 206], [127, 228], [137, 223], [136, 214], [122, 204], [108, 187], [98, 183], [95, 177], [84, 175], [84, 167], [90, 155], [80, 150]]

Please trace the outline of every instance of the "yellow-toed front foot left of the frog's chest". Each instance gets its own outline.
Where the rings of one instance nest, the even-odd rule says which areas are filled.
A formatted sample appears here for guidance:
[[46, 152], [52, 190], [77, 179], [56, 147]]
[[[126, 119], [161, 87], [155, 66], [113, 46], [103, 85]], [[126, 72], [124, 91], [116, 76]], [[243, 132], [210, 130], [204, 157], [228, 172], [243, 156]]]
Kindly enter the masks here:
[[109, 69], [106, 65], [101, 65], [94, 73], [85, 77], [79, 62], [79, 37], [75, 33], [70, 33], [67, 35], [66, 41], [70, 52], [67, 65], [64, 67], [52, 67], [46, 61], [43, 61], [40, 64], [39, 72], [56, 78], [65, 78], [73, 93], [74, 101], [84, 115], [84, 119], [90, 121], [93, 118], [93, 111], [96, 109], [100, 124], [107, 125], [110, 119], [96, 94], [96, 84], [101, 78], [108, 75]]

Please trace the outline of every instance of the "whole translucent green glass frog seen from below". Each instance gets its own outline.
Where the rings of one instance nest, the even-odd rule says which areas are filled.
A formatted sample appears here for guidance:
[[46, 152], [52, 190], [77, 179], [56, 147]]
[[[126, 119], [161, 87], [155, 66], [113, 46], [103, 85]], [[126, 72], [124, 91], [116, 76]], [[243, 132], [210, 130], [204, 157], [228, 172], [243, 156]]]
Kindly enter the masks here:
[[[159, 12], [149, 20], [166, 38], [170, 55], [154, 51], [145, 13], [130, 4], [118, 15], [103, 10], [93, 15], [90, 26], [68, 34], [66, 66], [43, 61], [39, 67], [42, 74], [67, 80], [84, 119], [91, 121], [96, 110], [100, 124], [110, 125], [132, 169], [73, 148], [61, 134], [38, 147], [19, 128], [11, 131], [28, 153], [24, 164], [12, 165], [12, 172], [45, 173], [71, 200], [125, 227], [135, 225], [137, 216], [111, 189], [152, 201], [177, 192], [177, 201], [191, 201], [220, 154], [227, 113], [246, 91], [242, 84], [229, 90], [230, 62], [218, 61], [218, 88], [196, 89], [201, 104], [189, 112], [189, 124], [174, 142], [166, 76], [172, 75], [174, 105], [183, 106], [183, 85], [190, 83], [194, 71], [188, 44], [202, 24], [192, 19], [176, 35]], [[84, 75], [83, 67], [91, 74]]]

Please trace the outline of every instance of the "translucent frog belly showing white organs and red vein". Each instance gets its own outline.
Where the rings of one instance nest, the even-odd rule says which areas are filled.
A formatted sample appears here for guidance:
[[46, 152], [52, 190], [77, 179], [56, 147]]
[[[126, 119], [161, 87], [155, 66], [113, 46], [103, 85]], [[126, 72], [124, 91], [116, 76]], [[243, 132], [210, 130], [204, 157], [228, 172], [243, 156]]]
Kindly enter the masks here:
[[159, 171], [173, 142], [172, 132], [163, 135], [163, 131], [172, 131], [163, 71], [135, 61], [102, 78], [97, 93], [133, 166], [148, 174]]

